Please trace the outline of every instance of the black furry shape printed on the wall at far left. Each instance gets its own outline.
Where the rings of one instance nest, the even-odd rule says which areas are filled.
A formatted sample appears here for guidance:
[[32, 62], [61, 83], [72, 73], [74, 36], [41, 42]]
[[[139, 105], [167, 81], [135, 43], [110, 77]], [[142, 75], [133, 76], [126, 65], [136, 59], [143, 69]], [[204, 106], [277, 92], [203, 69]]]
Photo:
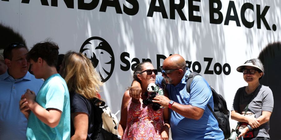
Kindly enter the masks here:
[[13, 42], [22, 42], [23, 44], [26, 44], [24, 38], [21, 34], [14, 31], [12, 27], [4, 25], [0, 22], [0, 48], [4, 49], [8, 44], [11, 44]]

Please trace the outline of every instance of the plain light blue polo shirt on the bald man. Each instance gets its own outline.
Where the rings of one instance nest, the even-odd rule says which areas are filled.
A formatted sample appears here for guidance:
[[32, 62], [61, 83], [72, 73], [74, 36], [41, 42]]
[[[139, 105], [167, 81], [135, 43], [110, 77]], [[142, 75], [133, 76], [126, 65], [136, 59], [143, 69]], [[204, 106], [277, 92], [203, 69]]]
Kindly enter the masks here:
[[[187, 68], [185, 75], [189, 75]], [[163, 77], [156, 77], [156, 84], [161, 85]], [[185, 76], [181, 82], [174, 86], [168, 84], [166, 90], [169, 93], [169, 99], [182, 105], [192, 105], [199, 107], [204, 111], [203, 116], [199, 120], [188, 119], [170, 109], [170, 126], [173, 140], [223, 140], [224, 135], [218, 126], [212, 112], [209, 110], [209, 104], [214, 110], [213, 96], [208, 82], [202, 76], [194, 77], [190, 93], [186, 91]]]

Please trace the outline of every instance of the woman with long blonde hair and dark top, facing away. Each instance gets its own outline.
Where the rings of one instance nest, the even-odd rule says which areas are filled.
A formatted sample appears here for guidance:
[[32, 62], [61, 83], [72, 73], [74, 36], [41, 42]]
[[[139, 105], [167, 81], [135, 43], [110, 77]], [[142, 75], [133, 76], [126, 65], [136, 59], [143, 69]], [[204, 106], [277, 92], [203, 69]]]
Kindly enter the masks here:
[[83, 54], [68, 52], [60, 68], [70, 94], [71, 140], [96, 139], [91, 99], [100, 98], [100, 77]]

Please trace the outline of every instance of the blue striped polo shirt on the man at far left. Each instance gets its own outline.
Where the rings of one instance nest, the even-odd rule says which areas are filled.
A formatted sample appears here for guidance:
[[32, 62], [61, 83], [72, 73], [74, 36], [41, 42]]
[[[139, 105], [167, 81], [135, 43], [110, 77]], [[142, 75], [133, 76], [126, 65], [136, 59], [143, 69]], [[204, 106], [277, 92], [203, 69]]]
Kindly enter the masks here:
[[43, 81], [27, 74], [14, 79], [8, 72], [0, 75], [0, 140], [25, 140], [27, 119], [19, 110], [19, 101], [27, 89], [36, 94]]

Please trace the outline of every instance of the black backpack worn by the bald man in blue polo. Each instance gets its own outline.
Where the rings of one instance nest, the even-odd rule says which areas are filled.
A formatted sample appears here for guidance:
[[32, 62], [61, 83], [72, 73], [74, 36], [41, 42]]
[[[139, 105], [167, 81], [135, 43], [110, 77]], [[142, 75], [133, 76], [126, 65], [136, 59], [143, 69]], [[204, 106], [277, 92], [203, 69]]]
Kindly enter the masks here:
[[[193, 78], [197, 75], [200, 75], [197, 72], [191, 72], [190, 75], [185, 75], [186, 81], [186, 91], [190, 93], [190, 86]], [[201, 76], [201, 75], [200, 75]], [[214, 117], [217, 119], [219, 123], [219, 128], [224, 132], [224, 139], [229, 138], [230, 136], [230, 125], [229, 125], [229, 110], [227, 110], [226, 101], [224, 98], [218, 94], [213, 87], [211, 87], [211, 91], [213, 94], [214, 100], [214, 111], [209, 104], [207, 104], [208, 108], [213, 113]]]

